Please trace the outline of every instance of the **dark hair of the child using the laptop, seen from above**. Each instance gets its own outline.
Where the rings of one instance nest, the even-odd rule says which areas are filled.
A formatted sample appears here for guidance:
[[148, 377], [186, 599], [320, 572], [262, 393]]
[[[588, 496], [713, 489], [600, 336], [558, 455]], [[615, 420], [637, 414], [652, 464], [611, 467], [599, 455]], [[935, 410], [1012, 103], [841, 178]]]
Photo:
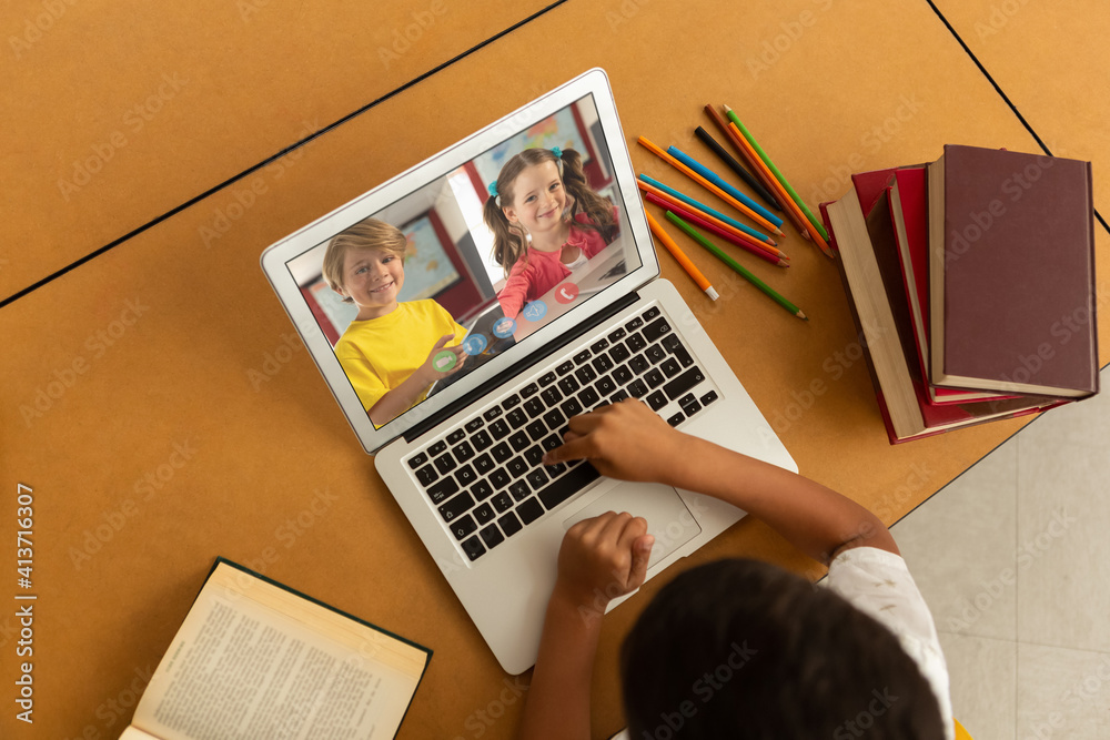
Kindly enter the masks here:
[[869, 740], [932, 740], [951, 721], [886, 627], [756, 560], [678, 576], [640, 615], [620, 662], [633, 738], [811, 740], [866, 730]]

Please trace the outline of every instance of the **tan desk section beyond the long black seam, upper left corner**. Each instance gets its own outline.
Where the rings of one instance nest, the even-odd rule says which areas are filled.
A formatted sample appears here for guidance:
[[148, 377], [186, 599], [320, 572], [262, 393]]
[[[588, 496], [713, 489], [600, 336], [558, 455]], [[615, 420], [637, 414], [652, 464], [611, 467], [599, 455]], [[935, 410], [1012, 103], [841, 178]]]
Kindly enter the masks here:
[[0, 301], [547, 4], [8, 3]]

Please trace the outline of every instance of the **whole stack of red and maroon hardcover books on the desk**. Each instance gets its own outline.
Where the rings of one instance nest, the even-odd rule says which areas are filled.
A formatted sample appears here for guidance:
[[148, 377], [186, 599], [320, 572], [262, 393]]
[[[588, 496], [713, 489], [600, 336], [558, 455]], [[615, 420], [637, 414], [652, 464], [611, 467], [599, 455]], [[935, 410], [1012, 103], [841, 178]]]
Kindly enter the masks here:
[[820, 210], [891, 444], [1098, 393], [1089, 162], [946, 145]]

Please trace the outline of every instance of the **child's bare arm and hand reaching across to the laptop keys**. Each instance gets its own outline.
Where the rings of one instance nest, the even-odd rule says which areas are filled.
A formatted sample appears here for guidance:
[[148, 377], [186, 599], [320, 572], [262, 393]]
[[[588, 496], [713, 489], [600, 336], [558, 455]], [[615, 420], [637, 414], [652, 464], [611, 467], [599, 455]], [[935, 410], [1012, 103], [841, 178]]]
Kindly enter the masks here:
[[827, 564], [845, 547], [898, 553], [882, 521], [819, 483], [673, 429], [638, 401], [576, 416], [545, 464], [586, 458], [603, 475], [657, 480], [723, 499]]

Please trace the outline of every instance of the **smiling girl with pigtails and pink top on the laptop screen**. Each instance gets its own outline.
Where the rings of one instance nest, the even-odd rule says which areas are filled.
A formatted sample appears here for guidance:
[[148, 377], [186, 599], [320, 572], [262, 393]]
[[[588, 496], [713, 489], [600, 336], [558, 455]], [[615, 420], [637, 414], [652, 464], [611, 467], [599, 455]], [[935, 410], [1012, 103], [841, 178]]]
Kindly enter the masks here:
[[[497, 294], [507, 318], [605, 249], [619, 230], [616, 210], [586, 182], [573, 149], [526, 149], [490, 185], [483, 219], [505, 270]], [[529, 243], [531, 242], [531, 243]]]

